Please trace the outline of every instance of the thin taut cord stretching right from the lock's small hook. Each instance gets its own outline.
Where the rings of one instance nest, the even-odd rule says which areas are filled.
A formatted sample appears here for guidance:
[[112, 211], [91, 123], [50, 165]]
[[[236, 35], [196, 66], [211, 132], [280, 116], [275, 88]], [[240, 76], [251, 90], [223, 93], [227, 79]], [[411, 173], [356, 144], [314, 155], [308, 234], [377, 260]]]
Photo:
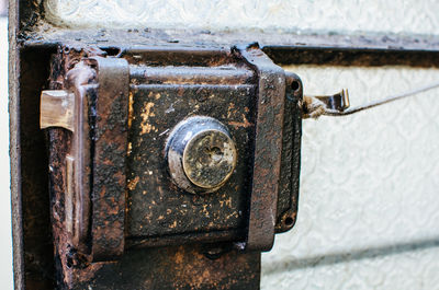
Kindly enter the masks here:
[[426, 91], [429, 91], [429, 90], [432, 90], [432, 89], [437, 89], [437, 88], [439, 88], [439, 82], [432, 83], [432, 84], [429, 84], [429, 85], [426, 85], [426, 86], [421, 86], [421, 88], [418, 88], [416, 90], [408, 91], [408, 92], [405, 92], [405, 93], [402, 93], [402, 94], [387, 96], [387, 97], [385, 97], [385, 98], [383, 98], [381, 101], [372, 102], [372, 103], [370, 103], [368, 105], [362, 105], [362, 106], [358, 106], [358, 107], [348, 108], [348, 109], [346, 109], [344, 112], [326, 108], [325, 113], [323, 115], [325, 115], [325, 116], [335, 116], [335, 117], [341, 117], [341, 116], [346, 116], [346, 115], [351, 115], [351, 114], [354, 114], [354, 113], [358, 113], [358, 112], [361, 112], [361, 111], [364, 111], [364, 109], [369, 109], [369, 108], [372, 108], [372, 107], [384, 105], [384, 104], [391, 103], [393, 101], [402, 100], [402, 98], [405, 98], [407, 96], [412, 96], [412, 95], [415, 95], [415, 94], [418, 94], [418, 93], [423, 93], [423, 92], [426, 92]]

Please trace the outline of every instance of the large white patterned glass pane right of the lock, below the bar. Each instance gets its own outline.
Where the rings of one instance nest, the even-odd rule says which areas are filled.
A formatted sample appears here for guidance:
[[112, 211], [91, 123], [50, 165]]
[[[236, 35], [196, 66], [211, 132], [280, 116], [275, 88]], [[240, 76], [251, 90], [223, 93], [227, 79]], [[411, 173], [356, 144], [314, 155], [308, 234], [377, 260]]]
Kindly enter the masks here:
[[[437, 69], [286, 69], [307, 94], [348, 88], [352, 106], [439, 80]], [[262, 289], [439, 289], [438, 116], [431, 91], [304, 120], [299, 220], [262, 255]]]

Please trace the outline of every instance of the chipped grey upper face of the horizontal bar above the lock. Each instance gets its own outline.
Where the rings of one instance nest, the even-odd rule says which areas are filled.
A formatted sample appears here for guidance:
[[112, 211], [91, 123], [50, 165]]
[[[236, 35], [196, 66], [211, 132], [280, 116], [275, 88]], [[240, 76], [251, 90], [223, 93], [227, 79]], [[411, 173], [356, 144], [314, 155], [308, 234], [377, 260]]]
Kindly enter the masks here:
[[[392, 34], [358, 32], [350, 34], [327, 34], [325, 32], [279, 32], [270, 31], [209, 31], [196, 28], [154, 28], [114, 30], [114, 28], [77, 28], [54, 26], [43, 20], [26, 32], [25, 43], [45, 43], [71, 40], [76, 43], [95, 42], [113, 44], [117, 39], [132, 39], [131, 44], [157, 44], [169, 46], [181, 44], [248, 44], [258, 40], [264, 47], [314, 47], [314, 48], [350, 48], [350, 49], [385, 49], [385, 50], [438, 50], [439, 36], [426, 34]], [[93, 37], [92, 37], [93, 35]], [[77, 39], [77, 40], [76, 40]], [[126, 44], [126, 43], [125, 43]]]

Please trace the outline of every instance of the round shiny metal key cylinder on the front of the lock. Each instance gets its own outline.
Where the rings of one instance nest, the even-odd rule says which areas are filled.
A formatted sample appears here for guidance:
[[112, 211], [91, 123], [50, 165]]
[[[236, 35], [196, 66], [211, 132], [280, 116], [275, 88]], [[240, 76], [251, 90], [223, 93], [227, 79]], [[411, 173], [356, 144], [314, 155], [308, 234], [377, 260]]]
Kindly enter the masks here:
[[236, 148], [227, 128], [211, 117], [190, 117], [178, 124], [166, 151], [173, 182], [192, 194], [215, 192], [236, 166]]

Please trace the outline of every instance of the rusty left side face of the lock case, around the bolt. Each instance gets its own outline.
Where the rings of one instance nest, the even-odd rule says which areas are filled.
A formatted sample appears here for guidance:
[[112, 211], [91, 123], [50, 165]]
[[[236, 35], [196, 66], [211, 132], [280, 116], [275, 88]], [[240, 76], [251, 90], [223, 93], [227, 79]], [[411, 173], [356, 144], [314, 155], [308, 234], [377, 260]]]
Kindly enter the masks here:
[[[49, 187], [53, 240], [55, 252], [55, 282], [57, 289], [65, 289], [75, 281], [72, 267], [87, 263], [89, 195], [88, 177], [90, 172], [89, 146], [83, 135], [89, 131], [86, 86], [93, 82], [92, 71], [75, 63], [86, 54], [83, 50], [60, 47], [52, 61], [50, 89], [67, 90], [75, 94], [76, 135], [64, 128], [48, 127]], [[71, 69], [72, 68], [72, 69]], [[69, 72], [69, 73], [68, 73]], [[64, 81], [67, 80], [67, 81]], [[78, 116], [78, 112], [85, 112]], [[79, 121], [80, 118], [82, 121]], [[86, 120], [85, 120], [86, 119]], [[85, 121], [83, 121], [85, 120]], [[87, 150], [85, 148], [87, 147]], [[78, 150], [82, 148], [81, 150]], [[80, 171], [79, 171], [80, 170]], [[80, 173], [80, 174], [75, 174]], [[86, 190], [81, 190], [85, 187]], [[78, 193], [78, 194], [76, 194]], [[81, 195], [82, 194], [82, 195]], [[86, 195], [86, 196], [83, 196]]]

